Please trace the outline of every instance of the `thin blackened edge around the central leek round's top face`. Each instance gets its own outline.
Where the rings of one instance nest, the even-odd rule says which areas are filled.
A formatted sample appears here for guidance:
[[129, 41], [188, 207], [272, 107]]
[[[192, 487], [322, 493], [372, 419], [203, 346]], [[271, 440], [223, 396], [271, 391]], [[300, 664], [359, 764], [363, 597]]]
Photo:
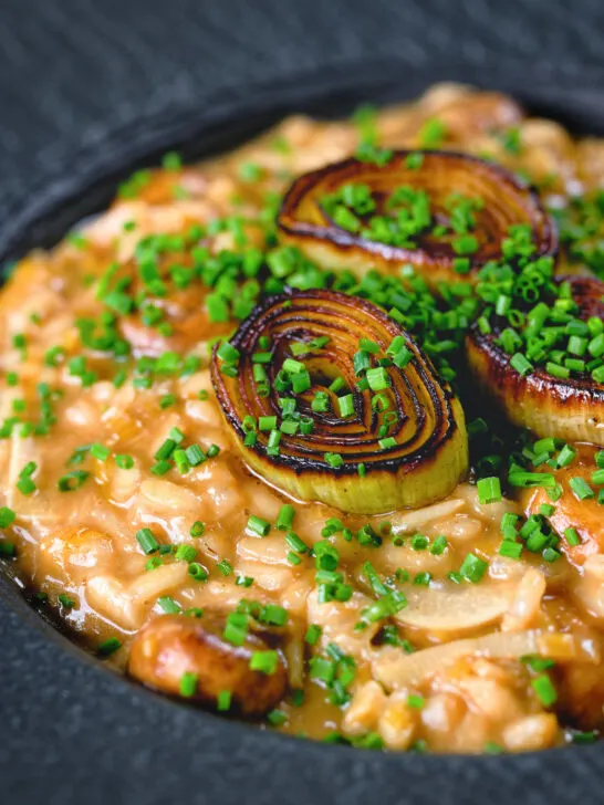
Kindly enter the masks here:
[[[339, 304], [342, 303], [342, 301], [347, 301], [351, 305], [354, 305], [354, 309], [363, 310], [367, 315], [372, 316], [374, 320], [376, 320], [383, 327], [385, 327], [388, 335], [392, 335], [394, 338], [396, 335], [402, 334], [400, 325], [395, 322], [395, 320], [390, 318], [385, 312], [377, 309], [373, 303], [367, 302], [365, 300], [358, 299], [358, 297], [352, 297], [346, 296], [345, 294], [332, 292], [332, 291], [313, 291], [313, 292], [288, 292], [284, 294], [280, 294], [278, 296], [271, 296], [268, 297], [262, 305], [260, 305], [254, 313], [243, 322], [243, 324], [239, 327], [237, 333], [232, 338], [230, 338], [230, 344], [232, 344], [233, 347], [239, 349], [239, 352], [242, 355], [242, 359], [239, 365], [239, 373], [246, 372], [247, 368], [251, 365], [250, 359], [248, 357], [248, 349], [244, 346], [250, 339], [253, 339], [253, 334], [257, 328], [259, 328], [259, 325], [264, 327], [265, 326], [265, 315], [271, 312], [271, 310], [275, 311], [275, 314], [281, 314], [283, 311], [280, 307], [283, 302], [295, 302], [296, 299], [308, 299], [312, 295], [312, 299], [321, 299], [324, 300], [325, 304], [329, 305], [330, 301], [332, 303], [337, 302]], [[302, 309], [303, 310], [303, 309]], [[319, 311], [325, 309], [316, 309]], [[329, 307], [326, 309], [329, 312]], [[360, 333], [360, 335], [363, 335]], [[357, 474], [357, 463], [365, 462], [371, 466], [372, 470], [385, 470], [388, 472], [396, 472], [397, 469], [400, 467], [407, 467], [409, 470], [413, 470], [415, 467], [426, 464], [428, 461], [434, 461], [438, 458], [438, 452], [441, 450], [447, 442], [449, 442], [458, 426], [455, 419], [454, 410], [451, 407], [451, 400], [454, 399], [455, 395], [452, 394], [450, 386], [442, 381], [438, 377], [438, 373], [434, 368], [430, 359], [421, 354], [421, 351], [415, 343], [415, 341], [408, 335], [405, 334], [406, 338], [406, 345], [407, 347], [414, 353], [413, 363], [415, 366], [415, 369], [417, 370], [421, 381], [424, 383], [424, 386], [429, 395], [430, 402], [434, 406], [435, 417], [436, 417], [436, 427], [433, 429], [430, 436], [426, 440], [426, 442], [423, 445], [423, 447], [408, 456], [399, 456], [398, 458], [392, 457], [392, 458], [384, 458], [384, 459], [377, 459], [375, 460], [375, 456], [379, 448], [377, 447], [377, 438], [375, 439], [376, 450], [372, 453], [361, 453], [361, 454], [354, 454], [352, 456], [350, 452], [343, 451], [342, 454], [344, 458], [348, 459], [348, 461], [345, 461], [341, 467], [333, 468], [325, 463], [325, 460], [322, 459], [311, 459], [305, 458], [302, 456], [289, 456], [279, 453], [278, 456], [268, 456], [265, 451], [265, 447], [263, 445], [256, 445], [253, 447], [246, 448], [247, 450], [251, 450], [257, 456], [260, 456], [264, 461], [273, 462], [274, 464], [284, 467], [287, 469], [293, 470], [295, 474], [302, 474], [304, 472], [323, 472], [325, 474], [333, 474], [333, 475], [356, 475]], [[211, 380], [212, 386], [216, 391], [216, 396], [220, 402], [220, 406], [222, 408], [222, 411], [233, 429], [233, 431], [237, 433], [238, 438], [240, 440], [243, 439], [246, 436], [246, 431], [242, 427], [242, 421], [239, 419], [236, 410], [235, 404], [231, 401], [229, 394], [226, 388], [226, 384], [223, 380], [223, 376], [220, 373], [220, 367], [217, 359], [217, 351], [219, 348], [219, 345], [216, 344], [212, 351], [212, 360], [211, 360]], [[398, 369], [397, 367], [393, 366], [390, 369], [397, 372], [400, 374], [402, 380], [407, 385], [408, 388], [408, 381], [405, 377], [404, 369]], [[237, 378], [233, 378], [237, 379]], [[410, 391], [410, 389], [409, 389]], [[416, 408], [418, 419], [421, 418], [423, 412], [420, 410], [420, 405], [417, 398], [415, 398], [414, 395], [414, 406]], [[341, 421], [341, 420], [339, 420]], [[445, 426], [445, 430], [442, 432], [442, 428]], [[420, 432], [420, 431], [419, 431]], [[416, 431], [417, 435], [417, 431]], [[414, 438], [417, 438], [417, 436], [414, 436]], [[312, 433], [310, 435], [310, 438], [312, 438]], [[410, 440], [413, 441], [413, 439]], [[409, 442], [407, 442], [408, 445]], [[330, 450], [326, 450], [325, 452], [339, 452], [337, 450], [339, 442], [334, 440], [333, 446], [330, 446]], [[397, 445], [396, 448], [390, 448], [390, 450], [405, 448], [406, 445]], [[381, 450], [379, 450], [381, 451]], [[387, 452], [387, 451], [384, 451]]]

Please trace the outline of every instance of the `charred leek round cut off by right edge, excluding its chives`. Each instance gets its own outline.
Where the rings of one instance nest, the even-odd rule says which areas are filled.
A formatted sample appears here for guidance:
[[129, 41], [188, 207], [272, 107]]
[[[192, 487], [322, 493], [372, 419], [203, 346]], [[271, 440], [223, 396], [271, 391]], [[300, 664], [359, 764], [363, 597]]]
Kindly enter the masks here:
[[[604, 282], [590, 276], [561, 276], [579, 305], [579, 317], [604, 320]], [[466, 351], [482, 389], [514, 425], [537, 436], [566, 441], [589, 441], [604, 447], [604, 384], [589, 375], [567, 379], [553, 377], [544, 367], [522, 376], [510, 365], [510, 356], [473, 325]]]

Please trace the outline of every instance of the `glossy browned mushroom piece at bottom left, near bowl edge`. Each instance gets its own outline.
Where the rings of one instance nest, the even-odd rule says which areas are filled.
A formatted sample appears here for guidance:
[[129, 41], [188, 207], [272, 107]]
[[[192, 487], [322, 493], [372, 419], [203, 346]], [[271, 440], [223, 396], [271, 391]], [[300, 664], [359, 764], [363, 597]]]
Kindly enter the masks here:
[[195, 675], [196, 689], [190, 697], [217, 704], [222, 691], [230, 691], [231, 707], [243, 715], [261, 715], [283, 698], [287, 669], [281, 651], [272, 673], [252, 670], [250, 660], [257, 651], [270, 651], [270, 636], [250, 631], [242, 646], [233, 646], [222, 636], [225, 619], [220, 615], [194, 618], [163, 615], [150, 620], [134, 638], [129, 673], [164, 693], [181, 694], [185, 675]]

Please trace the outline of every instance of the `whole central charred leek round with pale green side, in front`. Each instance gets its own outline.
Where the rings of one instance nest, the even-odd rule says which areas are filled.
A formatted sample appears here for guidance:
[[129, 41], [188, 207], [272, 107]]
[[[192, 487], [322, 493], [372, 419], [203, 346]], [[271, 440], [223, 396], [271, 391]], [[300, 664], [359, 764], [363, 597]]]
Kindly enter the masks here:
[[[268, 338], [272, 357], [264, 367], [268, 396], [262, 396], [253, 376], [253, 356], [263, 351]], [[312, 432], [282, 432], [278, 454], [269, 454], [270, 435], [261, 430], [256, 443], [244, 447], [246, 417], [257, 422], [260, 417], [282, 421], [274, 384], [283, 362], [300, 352], [292, 353], [292, 344], [317, 338], [329, 342], [300, 356], [311, 388], [295, 395], [300, 415], [306, 421], [312, 418]], [[395, 338], [407, 351], [404, 367], [384, 367], [388, 386], [382, 394], [389, 408], [382, 412], [375, 401], [372, 405], [379, 393], [355, 388], [360, 377], [353, 356], [360, 351], [360, 338], [378, 346], [371, 355], [373, 368], [378, 359], [386, 359]], [[272, 297], [239, 327], [230, 345], [240, 355], [237, 375], [223, 374], [216, 346], [211, 376], [236, 445], [252, 470], [293, 496], [353, 513], [378, 513], [426, 505], [448, 494], [467, 472], [467, 432], [459, 400], [413, 338], [372, 303], [331, 291]], [[354, 412], [347, 418], [340, 416], [335, 395], [329, 391], [336, 377], [343, 378], [354, 400]], [[327, 411], [313, 410], [316, 391], [330, 397]], [[281, 397], [291, 396], [281, 393]], [[384, 438], [379, 428], [388, 410], [396, 412], [397, 420], [388, 417], [390, 441], [379, 445]], [[330, 459], [333, 456], [341, 461]]]

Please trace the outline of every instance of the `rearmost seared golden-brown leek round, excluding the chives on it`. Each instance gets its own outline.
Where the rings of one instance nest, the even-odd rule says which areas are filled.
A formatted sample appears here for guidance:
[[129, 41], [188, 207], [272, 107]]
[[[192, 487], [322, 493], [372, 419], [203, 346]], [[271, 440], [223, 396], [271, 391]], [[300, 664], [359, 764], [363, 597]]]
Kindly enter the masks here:
[[[384, 212], [387, 198], [396, 188], [425, 191], [435, 226], [450, 223], [447, 203], [451, 195], [479, 199], [482, 206], [475, 211], [471, 229], [478, 248], [466, 254], [468, 268], [459, 273], [456, 259], [460, 253], [454, 248], [458, 239], [450, 229], [436, 237], [430, 226], [418, 234], [415, 245], [402, 248], [337, 226], [325, 211], [323, 199], [350, 184], [369, 187], [378, 213]], [[367, 216], [361, 216], [361, 220], [366, 223]], [[558, 249], [555, 228], [529, 185], [500, 166], [452, 151], [399, 150], [385, 165], [350, 158], [305, 174], [287, 194], [278, 224], [282, 240], [296, 245], [320, 265], [333, 270], [347, 268], [363, 274], [372, 268], [397, 271], [403, 263], [410, 263], [433, 288], [439, 282], [472, 281], [485, 263], [501, 258], [501, 243], [512, 224], [531, 227], [534, 257], [554, 254]]]

